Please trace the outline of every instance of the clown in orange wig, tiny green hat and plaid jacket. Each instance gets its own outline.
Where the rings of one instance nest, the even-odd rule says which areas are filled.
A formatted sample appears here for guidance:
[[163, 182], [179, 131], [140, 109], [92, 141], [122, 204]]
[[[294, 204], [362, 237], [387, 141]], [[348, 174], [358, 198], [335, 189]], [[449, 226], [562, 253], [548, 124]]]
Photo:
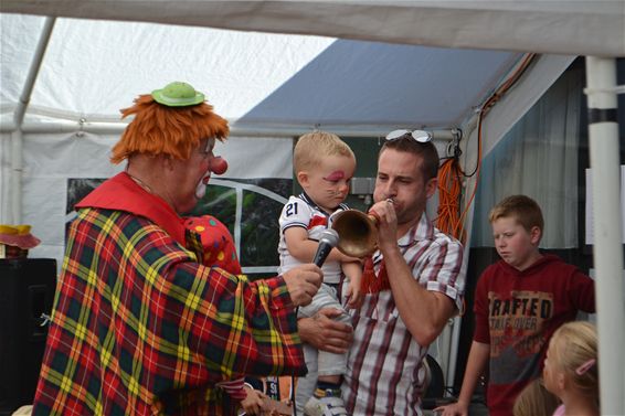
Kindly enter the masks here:
[[321, 273], [250, 282], [204, 258], [181, 215], [225, 172], [229, 127], [203, 94], [172, 83], [121, 113], [126, 170], [75, 206], [33, 414], [234, 415], [224, 382], [305, 373], [295, 308]]

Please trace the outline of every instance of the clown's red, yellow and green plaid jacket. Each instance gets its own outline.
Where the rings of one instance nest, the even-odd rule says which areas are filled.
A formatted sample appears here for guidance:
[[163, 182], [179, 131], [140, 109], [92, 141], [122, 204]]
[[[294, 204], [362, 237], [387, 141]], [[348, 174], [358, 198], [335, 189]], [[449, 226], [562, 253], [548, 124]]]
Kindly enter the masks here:
[[250, 282], [201, 266], [198, 255], [146, 217], [81, 210], [33, 414], [234, 414], [215, 383], [304, 374], [283, 278]]

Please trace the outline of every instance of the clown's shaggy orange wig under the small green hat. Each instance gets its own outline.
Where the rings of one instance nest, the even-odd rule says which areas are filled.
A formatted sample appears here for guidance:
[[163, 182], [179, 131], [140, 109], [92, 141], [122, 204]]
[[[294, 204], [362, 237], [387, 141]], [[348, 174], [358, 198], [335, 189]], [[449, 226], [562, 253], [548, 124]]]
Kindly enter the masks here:
[[135, 105], [121, 110], [121, 118], [135, 118], [113, 147], [110, 161], [119, 163], [135, 153], [167, 154], [186, 160], [203, 139], [225, 140], [227, 121], [213, 113], [213, 107], [200, 103], [188, 107], [167, 107], [151, 95], [140, 95]]

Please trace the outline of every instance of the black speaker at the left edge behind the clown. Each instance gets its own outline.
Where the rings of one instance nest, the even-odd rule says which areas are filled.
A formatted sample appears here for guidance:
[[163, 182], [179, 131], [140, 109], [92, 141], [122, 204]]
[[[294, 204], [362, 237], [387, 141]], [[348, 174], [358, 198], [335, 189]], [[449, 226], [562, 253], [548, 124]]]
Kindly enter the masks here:
[[33, 402], [55, 285], [52, 258], [0, 259], [0, 415]]

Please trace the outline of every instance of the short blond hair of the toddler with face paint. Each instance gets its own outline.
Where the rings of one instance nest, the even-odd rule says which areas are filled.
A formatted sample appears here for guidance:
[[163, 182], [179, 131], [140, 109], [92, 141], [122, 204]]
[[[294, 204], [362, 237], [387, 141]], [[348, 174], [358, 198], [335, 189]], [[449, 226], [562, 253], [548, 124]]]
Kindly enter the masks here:
[[345, 156], [356, 160], [353, 151], [337, 135], [327, 131], [312, 131], [297, 140], [293, 151], [293, 169], [296, 174], [310, 170], [327, 156]]

